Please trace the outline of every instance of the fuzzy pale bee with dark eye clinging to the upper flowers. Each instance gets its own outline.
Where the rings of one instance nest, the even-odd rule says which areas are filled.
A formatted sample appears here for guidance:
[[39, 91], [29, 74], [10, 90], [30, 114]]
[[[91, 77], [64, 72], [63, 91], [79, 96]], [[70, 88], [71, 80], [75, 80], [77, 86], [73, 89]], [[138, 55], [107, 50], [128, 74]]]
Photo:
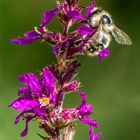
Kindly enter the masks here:
[[[113, 22], [111, 15], [101, 8], [95, 7], [87, 24], [95, 28], [95, 33], [85, 44], [85, 52], [89, 56], [98, 55], [103, 49], [108, 48], [112, 36], [116, 42], [122, 45], [131, 45], [130, 37], [119, 29]], [[111, 36], [112, 35], [112, 36]], [[85, 37], [85, 39], [89, 38]]]

